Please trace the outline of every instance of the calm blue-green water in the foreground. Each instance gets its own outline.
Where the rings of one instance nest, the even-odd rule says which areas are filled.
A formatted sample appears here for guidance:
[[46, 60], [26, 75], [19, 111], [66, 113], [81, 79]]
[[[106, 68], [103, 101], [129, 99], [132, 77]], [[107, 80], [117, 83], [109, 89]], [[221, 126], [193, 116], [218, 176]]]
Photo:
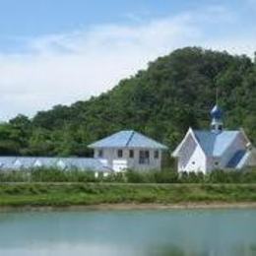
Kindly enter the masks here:
[[256, 210], [1, 213], [0, 255], [256, 255]]

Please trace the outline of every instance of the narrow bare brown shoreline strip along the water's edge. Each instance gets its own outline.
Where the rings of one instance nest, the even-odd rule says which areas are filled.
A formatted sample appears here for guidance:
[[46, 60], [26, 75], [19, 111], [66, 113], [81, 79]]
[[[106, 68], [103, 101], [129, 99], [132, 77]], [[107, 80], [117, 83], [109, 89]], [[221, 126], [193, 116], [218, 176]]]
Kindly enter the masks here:
[[0, 213], [7, 212], [72, 212], [72, 211], [143, 211], [143, 210], [219, 210], [256, 209], [256, 202], [205, 202], [178, 204], [99, 204], [73, 206], [0, 206]]

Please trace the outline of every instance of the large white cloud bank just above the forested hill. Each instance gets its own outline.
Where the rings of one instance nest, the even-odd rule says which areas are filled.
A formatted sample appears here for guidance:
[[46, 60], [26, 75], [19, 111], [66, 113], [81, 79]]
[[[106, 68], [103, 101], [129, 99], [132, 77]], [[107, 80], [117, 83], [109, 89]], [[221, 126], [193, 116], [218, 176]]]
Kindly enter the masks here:
[[0, 119], [96, 96], [178, 47], [205, 45], [240, 53], [244, 45], [242, 51], [251, 54], [253, 43], [247, 46], [236, 37], [229, 42], [230, 34], [208, 37], [209, 29], [235, 19], [223, 7], [211, 6], [147, 24], [32, 38], [26, 53], [0, 53]]

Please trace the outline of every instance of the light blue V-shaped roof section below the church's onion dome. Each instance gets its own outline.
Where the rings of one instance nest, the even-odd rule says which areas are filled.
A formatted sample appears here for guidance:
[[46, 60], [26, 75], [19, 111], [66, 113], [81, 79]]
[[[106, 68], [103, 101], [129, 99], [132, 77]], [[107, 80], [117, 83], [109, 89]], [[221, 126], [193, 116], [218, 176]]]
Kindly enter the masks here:
[[207, 156], [222, 157], [224, 151], [231, 145], [240, 131], [194, 131], [194, 134]]

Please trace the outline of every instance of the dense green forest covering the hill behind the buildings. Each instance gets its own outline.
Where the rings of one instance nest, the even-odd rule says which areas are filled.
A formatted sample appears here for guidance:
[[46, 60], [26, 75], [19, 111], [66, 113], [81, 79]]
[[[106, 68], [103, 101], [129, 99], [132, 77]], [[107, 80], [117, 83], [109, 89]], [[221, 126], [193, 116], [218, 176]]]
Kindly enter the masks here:
[[1, 123], [0, 155], [90, 156], [88, 144], [121, 129], [140, 131], [172, 150], [189, 126], [209, 128], [216, 88], [225, 128], [243, 127], [256, 143], [255, 61], [186, 47], [100, 96]]

